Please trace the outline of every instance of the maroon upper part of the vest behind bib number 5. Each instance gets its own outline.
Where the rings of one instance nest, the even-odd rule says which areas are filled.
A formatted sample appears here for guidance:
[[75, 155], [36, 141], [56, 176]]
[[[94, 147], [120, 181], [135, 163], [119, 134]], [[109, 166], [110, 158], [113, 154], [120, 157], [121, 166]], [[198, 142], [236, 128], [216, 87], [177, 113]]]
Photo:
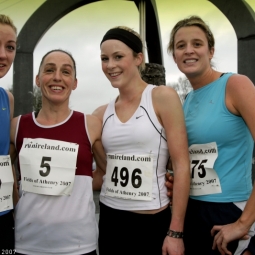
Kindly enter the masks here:
[[16, 138], [16, 149], [19, 154], [23, 138], [45, 138], [79, 144], [76, 162], [76, 175], [92, 177], [93, 155], [87, 135], [84, 114], [73, 111], [65, 122], [54, 126], [38, 126], [33, 120], [33, 113], [21, 116]]

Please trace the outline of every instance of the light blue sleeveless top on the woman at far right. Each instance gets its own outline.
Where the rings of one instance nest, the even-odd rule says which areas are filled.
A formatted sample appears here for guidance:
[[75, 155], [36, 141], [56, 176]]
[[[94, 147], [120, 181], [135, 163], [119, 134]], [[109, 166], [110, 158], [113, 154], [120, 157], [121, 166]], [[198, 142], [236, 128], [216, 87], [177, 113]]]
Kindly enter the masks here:
[[191, 196], [210, 202], [238, 202], [249, 198], [252, 190], [251, 168], [253, 138], [242, 117], [226, 107], [225, 94], [228, 78], [224, 74], [216, 81], [191, 91], [184, 103], [189, 146], [216, 142], [217, 172], [222, 193]]

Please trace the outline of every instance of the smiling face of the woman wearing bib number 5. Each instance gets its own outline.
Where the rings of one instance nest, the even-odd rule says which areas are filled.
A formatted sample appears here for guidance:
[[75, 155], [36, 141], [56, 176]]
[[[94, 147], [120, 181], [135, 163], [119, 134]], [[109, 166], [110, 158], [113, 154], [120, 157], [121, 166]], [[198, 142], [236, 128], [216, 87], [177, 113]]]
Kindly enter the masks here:
[[41, 88], [43, 102], [69, 102], [72, 90], [77, 87], [74, 62], [70, 56], [61, 51], [54, 51], [44, 58], [36, 85]]

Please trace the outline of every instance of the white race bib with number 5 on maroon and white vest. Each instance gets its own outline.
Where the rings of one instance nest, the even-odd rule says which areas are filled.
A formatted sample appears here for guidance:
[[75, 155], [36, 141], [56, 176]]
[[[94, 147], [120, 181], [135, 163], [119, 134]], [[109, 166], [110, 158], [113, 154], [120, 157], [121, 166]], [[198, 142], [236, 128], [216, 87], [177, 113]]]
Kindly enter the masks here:
[[19, 153], [22, 189], [43, 195], [70, 195], [79, 145], [24, 138]]

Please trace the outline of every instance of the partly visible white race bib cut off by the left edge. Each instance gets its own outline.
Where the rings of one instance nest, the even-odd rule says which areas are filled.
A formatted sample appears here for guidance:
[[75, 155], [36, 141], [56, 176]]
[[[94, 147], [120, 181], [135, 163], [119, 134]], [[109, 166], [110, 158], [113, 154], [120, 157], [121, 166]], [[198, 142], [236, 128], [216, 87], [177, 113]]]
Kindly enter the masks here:
[[0, 212], [13, 209], [13, 183], [10, 155], [0, 156]]

